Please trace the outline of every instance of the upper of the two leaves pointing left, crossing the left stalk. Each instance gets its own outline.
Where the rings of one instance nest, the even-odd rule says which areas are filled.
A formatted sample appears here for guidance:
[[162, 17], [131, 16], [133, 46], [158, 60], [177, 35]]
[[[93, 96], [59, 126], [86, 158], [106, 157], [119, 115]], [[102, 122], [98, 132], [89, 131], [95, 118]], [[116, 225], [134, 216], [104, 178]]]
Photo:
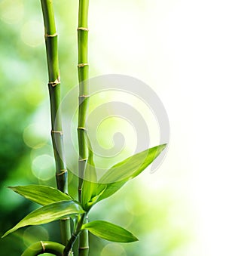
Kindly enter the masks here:
[[21, 196], [24, 196], [26, 199], [31, 200], [32, 202], [37, 202], [39, 205], [49, 205], [53, 202], [72, 200], [69, 195], [66, 195], [60, 190], [56, 190], [53, 187], [42, 185], [27, 185], [8, 188], [20, 194]]

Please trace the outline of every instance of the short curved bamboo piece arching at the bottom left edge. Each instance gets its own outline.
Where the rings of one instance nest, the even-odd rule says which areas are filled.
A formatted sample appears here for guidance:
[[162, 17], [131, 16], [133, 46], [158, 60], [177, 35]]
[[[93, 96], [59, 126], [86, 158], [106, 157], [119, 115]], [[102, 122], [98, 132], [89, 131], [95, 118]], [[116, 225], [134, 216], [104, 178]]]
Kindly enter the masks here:
[[44, 253], [50, 253], [56, 256], [63, 255], [64, 246], [57, 242], [35, 242], [26, 248], [21, 256], [37, 256]]

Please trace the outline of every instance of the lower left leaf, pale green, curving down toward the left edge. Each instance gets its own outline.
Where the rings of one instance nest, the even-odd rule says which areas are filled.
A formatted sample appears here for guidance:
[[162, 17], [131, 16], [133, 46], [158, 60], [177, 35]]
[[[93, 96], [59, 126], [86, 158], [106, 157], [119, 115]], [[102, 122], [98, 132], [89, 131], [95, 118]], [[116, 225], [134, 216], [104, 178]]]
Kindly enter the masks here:
[[84, 213], [83, 208], [76, 201], [60, 201], [53, 202], [50, 205], [44, 205], [35, 211], [32, 211], [26, 217], [23, 218], [15, 227], [8, 230], [4, 236], [18, 230], [20, 227], [25, 227], [28, 225], [39, 225], [46, 224], [51, 221], [59, 220], [62, 217], [70, 216], [72, 214], [82, 214]]

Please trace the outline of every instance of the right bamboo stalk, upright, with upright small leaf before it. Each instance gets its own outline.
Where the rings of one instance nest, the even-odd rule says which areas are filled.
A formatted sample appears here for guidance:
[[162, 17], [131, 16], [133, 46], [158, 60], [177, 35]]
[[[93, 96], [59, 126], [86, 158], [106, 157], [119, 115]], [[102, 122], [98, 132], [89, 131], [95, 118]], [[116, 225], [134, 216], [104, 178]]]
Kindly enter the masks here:
[[[84, 180], [84, 170], [87, 163], [86, 119], [89, 103], [89, 65], [88, 65], [88, 8], [89, 0], [79, 0], [78, 8], [78, 81], [79, 81], [79, 108], [78, 108], [78, 200], [81, 202], [81, 187]], [[83, 219], [84, 215], [81, 216]], [[87, 219], [86, 219], [87, 221]], [[88, 231], [83, 230], [78, 240], [78, 256], [87, 256], [89, 253]]]

